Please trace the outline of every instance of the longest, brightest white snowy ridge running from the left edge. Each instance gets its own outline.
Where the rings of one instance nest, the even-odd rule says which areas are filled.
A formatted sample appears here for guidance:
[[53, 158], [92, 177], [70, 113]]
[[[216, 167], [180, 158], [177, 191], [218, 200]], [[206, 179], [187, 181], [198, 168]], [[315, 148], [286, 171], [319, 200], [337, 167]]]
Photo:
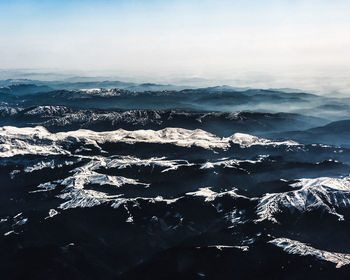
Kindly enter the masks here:
[[220, 138], [201, 129], [165, 128], [161, 130], [133, 131], [118, 129], [107, 132], [79, 129], [69, 132], [50, 133], [41, 126], [34, 128], [4, 126], [0, 128], [0, 157], [12, 157], [23, 154], [71, 154], [64, 148], [65, 143], [83, 146], [92, 145], [99, 148], [99, 144], [118, 142], [128, 144], [172, 144], [181, 147], [197, 146], [204, 149], [227, 149], [232, 143], [238, 144], [242, 148], [254, 145], [299, 145], [293, 141], [274, 142], [242, 133], [235, 133], [231, 137]]

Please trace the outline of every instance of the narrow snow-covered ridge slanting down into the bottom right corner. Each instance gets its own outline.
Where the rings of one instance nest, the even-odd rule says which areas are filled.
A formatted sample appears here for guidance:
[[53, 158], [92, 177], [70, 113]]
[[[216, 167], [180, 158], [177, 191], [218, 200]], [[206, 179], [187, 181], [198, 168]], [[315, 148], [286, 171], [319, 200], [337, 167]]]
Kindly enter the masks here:
[[276, 238], [269, 243], [280, 247], [283, 251], [300, 256], [313, 256], [322, 261], [328, 261], [336, 264], [337, 268], [350, 264], [350, 254], [333, 253], [324, 250], [315, 249], [302, 242], [288, 238]]

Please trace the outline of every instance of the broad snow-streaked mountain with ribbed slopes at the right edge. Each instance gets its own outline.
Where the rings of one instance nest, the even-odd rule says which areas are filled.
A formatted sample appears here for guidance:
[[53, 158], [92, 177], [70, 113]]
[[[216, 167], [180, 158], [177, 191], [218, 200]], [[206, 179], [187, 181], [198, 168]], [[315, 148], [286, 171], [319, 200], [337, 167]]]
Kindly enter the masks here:
[[276, 214], [283, 211], [309, 212], [320, 209], [343, 220], [337, 209], [350, 207], [350, 177], [300, 179], [292, 184], [298, 188], [284, 193], [264, 195], [258, 204], [259, 221], [277, 222]]

